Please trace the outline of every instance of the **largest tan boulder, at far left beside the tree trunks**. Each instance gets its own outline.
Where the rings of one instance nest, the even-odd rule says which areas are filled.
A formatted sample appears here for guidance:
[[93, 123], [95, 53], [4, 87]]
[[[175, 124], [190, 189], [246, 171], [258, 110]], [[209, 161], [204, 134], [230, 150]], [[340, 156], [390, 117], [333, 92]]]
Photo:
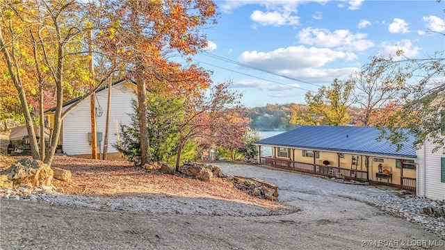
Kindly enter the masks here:
[[15, 185], [51, 185], [53, 169], [41, 160], [20, 159], [0, 174], [6, 174]]

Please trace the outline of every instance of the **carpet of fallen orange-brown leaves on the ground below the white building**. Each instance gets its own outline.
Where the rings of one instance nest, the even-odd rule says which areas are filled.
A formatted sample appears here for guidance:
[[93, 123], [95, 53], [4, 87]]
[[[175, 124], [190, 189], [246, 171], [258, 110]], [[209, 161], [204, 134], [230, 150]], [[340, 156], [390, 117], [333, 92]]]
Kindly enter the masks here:
[[[1, 156], [0, 170], [16, 158]], [[72, 172], [72, 181], [54, 179], [56, 187], [66, 194], [88, 194], [108, 197], [145, 197], [149, 194], [166, 194], [181, 197], [211, 198], [249, 203], [265, 208], [284, 208], [280, 203], [254, 198], [234, 187], [223, 178], [210, 182], [184, 176], [161, 174], [159, 170], [147, 171], [132, 163], [117, 160], [90, 160], [55, 156], [51, 167]]]

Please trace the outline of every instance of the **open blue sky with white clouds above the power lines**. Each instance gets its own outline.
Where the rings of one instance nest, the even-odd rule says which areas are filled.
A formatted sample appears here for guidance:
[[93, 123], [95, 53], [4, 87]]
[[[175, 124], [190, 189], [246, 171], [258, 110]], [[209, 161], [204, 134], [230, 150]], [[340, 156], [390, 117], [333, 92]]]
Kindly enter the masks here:
[[218, 24], [204, 30], [208, 52], [193, 60], [214, 82], [233, 81], [248, 107], [305, 103], [307, 91], [346, 80], [370, 56], [445, 50], [445, 36], [428, 32], [445, 33], [444, 1], [216, 3]]

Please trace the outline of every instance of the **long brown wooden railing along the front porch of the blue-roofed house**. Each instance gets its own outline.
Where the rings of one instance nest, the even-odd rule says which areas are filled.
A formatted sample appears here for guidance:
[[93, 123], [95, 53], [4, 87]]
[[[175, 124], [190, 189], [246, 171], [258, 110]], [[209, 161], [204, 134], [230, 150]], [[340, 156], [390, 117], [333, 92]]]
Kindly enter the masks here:
[[343, 169], [341, 167], [314, 165], [309, 163], [299, 163], [292, 160], [261, 157], [260, 163], [271, 165], [280, 169], [289, 169], [296, 172], [304, 172], [309, 174], [317, 174], [321, 176], [334, 177], [338, 173], [343, 174], [343, 178], [354, 181], [368, 181], [368, 172], [355, 169]]

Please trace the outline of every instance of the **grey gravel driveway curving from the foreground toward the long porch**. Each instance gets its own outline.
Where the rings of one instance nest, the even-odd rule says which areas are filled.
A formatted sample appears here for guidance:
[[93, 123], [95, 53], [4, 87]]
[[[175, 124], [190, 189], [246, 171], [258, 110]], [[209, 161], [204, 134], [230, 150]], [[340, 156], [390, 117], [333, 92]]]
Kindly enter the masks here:
[[0, 199], [0, 248], [444, 249], [443, 240], [419, 226], [355, 201], [354, 195], [378, 189], [261, 167], [220, 166], [227, 174], [277, 184], [280, 201], [299, 210], [257, 217], [172, 215]]

